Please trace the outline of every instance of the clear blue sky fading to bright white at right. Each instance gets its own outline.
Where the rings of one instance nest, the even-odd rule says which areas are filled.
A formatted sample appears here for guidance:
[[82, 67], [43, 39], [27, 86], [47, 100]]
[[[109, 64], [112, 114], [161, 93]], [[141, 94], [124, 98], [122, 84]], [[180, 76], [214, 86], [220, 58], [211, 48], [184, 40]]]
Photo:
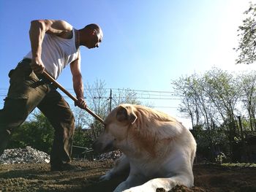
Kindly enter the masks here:
[[[255, 2], [255, 1], [252, 1]], [[98, 23], [99, 48], [81, 47], [84, 82], [104, 80], [107, 88], [172, 91], [171, 80], [217, 66], [239, 72], [255, 65], [235, 65], [237, 29], [249, 0], [97, 0], [0, 1], [0, 107], [9, 87], [7, 74], [30, 50], [34, 19], [67, 20], [75, 28]], [[69, 67], [58, 80], [72, 88]], [[176, 107], [177, 100], [153, 101]], [[175, 108], [162, 108], [179, 116]]]

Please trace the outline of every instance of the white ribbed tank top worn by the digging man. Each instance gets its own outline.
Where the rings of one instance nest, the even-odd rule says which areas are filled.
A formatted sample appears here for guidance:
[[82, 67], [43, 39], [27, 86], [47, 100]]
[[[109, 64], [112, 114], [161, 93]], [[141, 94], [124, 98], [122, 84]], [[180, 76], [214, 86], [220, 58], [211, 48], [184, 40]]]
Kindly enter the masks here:
[[[45, 70], [56, 80], [62, 70], [75, 61], [80, 49], [75, 47], [75, 29], [72, 39], [64, 39], [52, 34], [45, 34], [42, 41], [42, 63]], [[24, 58], [32, 58], [31, 51]]]

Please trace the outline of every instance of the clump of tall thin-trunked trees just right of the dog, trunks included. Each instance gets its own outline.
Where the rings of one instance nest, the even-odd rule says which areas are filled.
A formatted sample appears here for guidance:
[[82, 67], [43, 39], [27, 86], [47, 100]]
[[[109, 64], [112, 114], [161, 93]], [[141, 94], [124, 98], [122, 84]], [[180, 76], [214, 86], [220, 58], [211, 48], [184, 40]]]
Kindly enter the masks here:
[[211, 149], [210, 156], [213, 159], [219, 151], [221, 142], [218, 131], [222, 128], [228, 131], [226, 135], [233, 158], [238, 134], [236, 112], [241, 98], [233, 74], [213, 68], [202, 75], [181, 77], [173, 85], [182, 99], [180, 111], [191, 117], [195, 137], [204, 143], [208, 141], [207, 146], [198, 146]]

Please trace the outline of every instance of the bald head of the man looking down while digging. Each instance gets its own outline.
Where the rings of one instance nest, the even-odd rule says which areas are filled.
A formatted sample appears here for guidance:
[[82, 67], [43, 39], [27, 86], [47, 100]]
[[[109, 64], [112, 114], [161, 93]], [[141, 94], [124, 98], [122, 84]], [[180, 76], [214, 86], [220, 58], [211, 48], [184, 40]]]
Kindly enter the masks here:
[[89, 49], [99, 47], [102, 42], [103, 32], [102, 29], [94, 23], [91, 23], [80, 30], [81, 45]]

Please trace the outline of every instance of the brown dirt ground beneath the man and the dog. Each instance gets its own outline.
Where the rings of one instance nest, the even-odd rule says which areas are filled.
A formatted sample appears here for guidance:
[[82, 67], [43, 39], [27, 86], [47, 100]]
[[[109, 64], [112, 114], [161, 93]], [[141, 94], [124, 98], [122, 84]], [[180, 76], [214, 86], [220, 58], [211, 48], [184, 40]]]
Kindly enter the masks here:
[[[113, 191], [127, 174], [108, 182], [99, 177], [113, 161], [73, 161], [80, 169], [50, 172], [49, 164], [0, 164], [0, 191]], [[255, 166], [195, 164], [195, 187], [176, 186], [172, 191], [256, 191]], [[164, 190], [158, 189], [162, 192]]]

